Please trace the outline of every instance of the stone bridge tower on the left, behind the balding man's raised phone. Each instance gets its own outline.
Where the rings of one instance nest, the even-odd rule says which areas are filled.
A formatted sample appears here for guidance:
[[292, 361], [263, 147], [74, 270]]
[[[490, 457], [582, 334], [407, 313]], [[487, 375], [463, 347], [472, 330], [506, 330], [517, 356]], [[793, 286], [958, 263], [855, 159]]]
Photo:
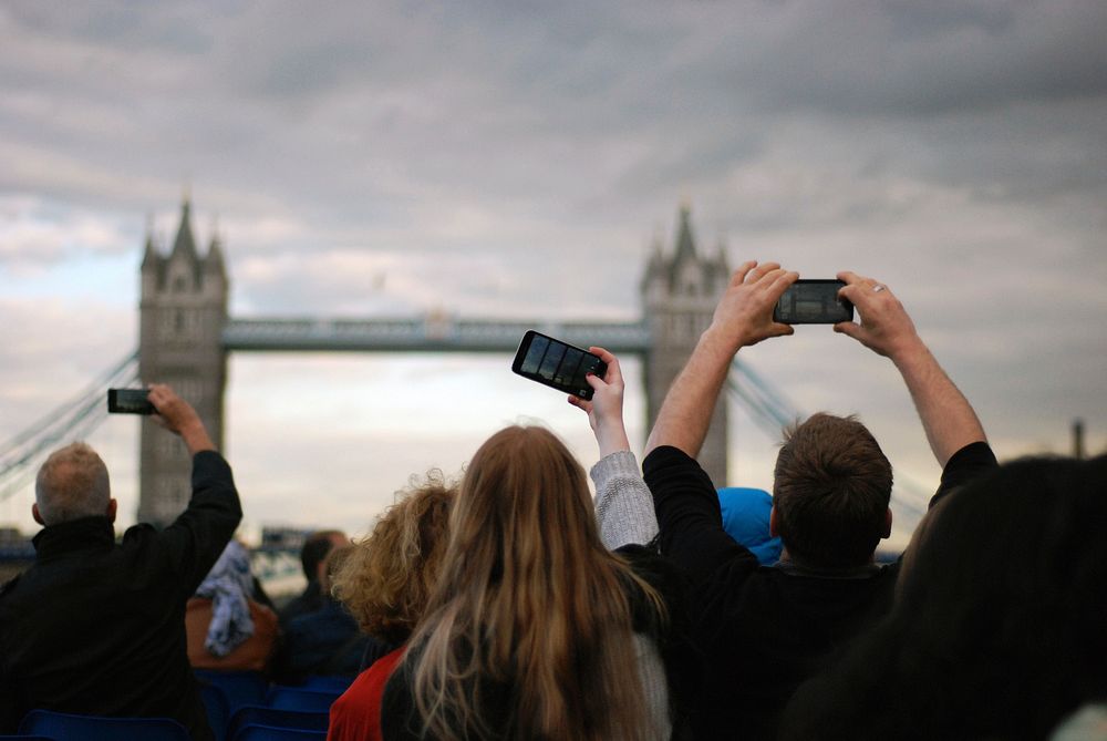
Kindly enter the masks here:
[[[219, 239], [204, 257], [196, 250], [187, 198], [173, 250], [164, 255], [146, 236], [139, 300], [138, 373], [144, 383], [168, 383], [199, 413], [223, 450], [227, 360], [227, 271]], [[168, 525], [192, 495], [192, 461], [184, 444], [148, 419], [142, 422], [138, 521]]]

